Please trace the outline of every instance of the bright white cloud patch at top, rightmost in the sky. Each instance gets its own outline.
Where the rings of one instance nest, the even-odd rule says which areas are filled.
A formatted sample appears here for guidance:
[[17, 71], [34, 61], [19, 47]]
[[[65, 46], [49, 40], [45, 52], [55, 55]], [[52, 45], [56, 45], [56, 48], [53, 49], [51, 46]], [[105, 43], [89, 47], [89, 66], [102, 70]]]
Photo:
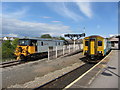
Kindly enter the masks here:
[[89, 18], [92, 18], [93, 12], [91, 9], [91, 4], [89, 2], [76, 2], [76, 5], [79, 7], [80, 11]]

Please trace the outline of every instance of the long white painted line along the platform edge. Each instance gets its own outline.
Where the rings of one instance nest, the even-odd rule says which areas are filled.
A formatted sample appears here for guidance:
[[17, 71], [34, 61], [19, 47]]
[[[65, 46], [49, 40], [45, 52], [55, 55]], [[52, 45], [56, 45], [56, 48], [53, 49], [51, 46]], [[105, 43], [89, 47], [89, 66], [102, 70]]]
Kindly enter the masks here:
[[[112, 51], [104, 58], [106, 59], [110, 54], [112, 53]], [[89, 73], [92, 69], [94, 69], [98, 64], [100, 64], [101, 62], [104, 61], [101, 60], [100, 62], [98, 62], [96, 65], [94, 65], [91, 69], [89, 69], [87, 72], [85, 72], [83, 75], [81, 75], [79, 78], [77, 78], [76, 80], [74, 80], [72, 83], [70, 83], [69, 85], [67, 85], [63, 90], [70, 88], [73, 84], [75, 84], [77, 81], [79, 81], [83, 76], [85, 76], [87, 73]]]

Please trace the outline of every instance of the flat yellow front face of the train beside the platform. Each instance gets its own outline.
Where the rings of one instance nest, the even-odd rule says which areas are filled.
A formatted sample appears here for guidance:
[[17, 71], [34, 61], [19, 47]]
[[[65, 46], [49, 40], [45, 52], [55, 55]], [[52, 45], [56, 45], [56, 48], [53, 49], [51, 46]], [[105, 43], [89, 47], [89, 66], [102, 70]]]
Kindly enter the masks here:
[[101, 36], [89, 36], [83, 40], [83, 54], [91, 60], [104, 56], [104, 38]]

